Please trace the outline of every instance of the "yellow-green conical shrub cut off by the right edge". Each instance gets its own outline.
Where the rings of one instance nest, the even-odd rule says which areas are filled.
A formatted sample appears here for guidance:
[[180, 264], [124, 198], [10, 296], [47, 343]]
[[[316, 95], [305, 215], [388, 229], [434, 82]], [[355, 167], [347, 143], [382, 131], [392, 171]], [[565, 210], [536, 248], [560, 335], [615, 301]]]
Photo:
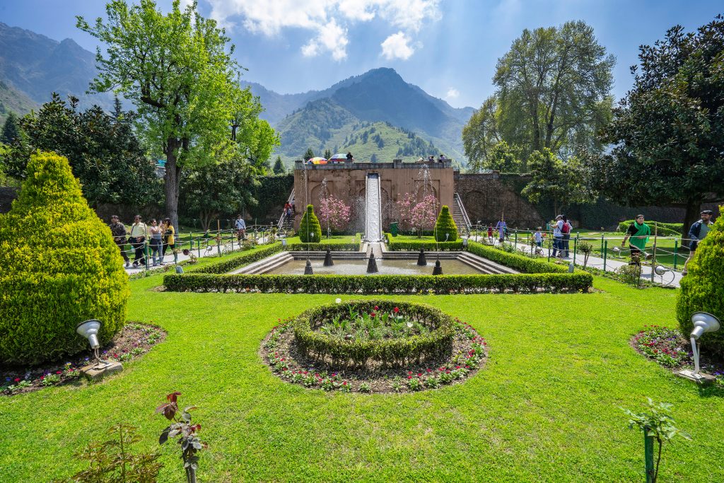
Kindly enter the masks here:
[[[724, 206], [720, 208], [724, 211]], [[694, 312], [709, 312], [724, 324], [724, 217], [719, 217], [707, 238], [699, 242], [694, 259], [686, 267], [676, 300], [676, 316], [687, 339], [694, 325]], [[702, 335], [706, 350], [724, 356], [724, 329]]]

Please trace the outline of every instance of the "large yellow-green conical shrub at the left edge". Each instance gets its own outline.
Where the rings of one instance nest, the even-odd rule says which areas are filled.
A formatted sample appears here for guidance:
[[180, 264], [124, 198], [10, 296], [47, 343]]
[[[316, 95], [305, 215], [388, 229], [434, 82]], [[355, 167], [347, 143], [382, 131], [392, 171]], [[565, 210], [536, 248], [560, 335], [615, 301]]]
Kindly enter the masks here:
[[123, 326], [130, 297], [109, 228], [88, 207], [68, 160], [30, 156], [28, 177], [0, 215], [0, 362], [39, 364], [88, 348], [77, 324], [98, 319], [101, 344]]

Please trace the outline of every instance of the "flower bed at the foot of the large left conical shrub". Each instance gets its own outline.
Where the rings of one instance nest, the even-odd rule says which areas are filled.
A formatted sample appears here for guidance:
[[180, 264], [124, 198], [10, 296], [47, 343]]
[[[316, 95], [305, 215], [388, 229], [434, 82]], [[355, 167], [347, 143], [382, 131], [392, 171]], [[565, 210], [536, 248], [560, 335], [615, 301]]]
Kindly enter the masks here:
[[[132, 361], [143, 356], [165, 338], [166, 332], [160, 327], [128, 322], [111, 342], [101, 347], [101, 358], [121, 363]], [[16, 395], [62, 384], [80, 385], [85, 379], [80, 369], [90, 364], [92, 358], [93, 353], [84, 350], [62, 361], [33, 368], [0, 365], [0, 394]]]

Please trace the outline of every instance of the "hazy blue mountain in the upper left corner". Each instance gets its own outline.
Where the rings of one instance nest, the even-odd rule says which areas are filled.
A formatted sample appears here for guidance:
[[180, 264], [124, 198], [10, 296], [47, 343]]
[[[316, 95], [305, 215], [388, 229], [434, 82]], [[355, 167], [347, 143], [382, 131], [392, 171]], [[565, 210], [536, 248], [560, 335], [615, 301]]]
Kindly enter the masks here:
[[62, 98], [79, 98], [80, 109], [92, 104], [111, 109], [110, 94], [85, 93], [96, 72], [96, 54], [72, 39], [54, 41], [0, 22], [0, 81], [36, 105], [49, 101], [51, 93], [57, 92]]

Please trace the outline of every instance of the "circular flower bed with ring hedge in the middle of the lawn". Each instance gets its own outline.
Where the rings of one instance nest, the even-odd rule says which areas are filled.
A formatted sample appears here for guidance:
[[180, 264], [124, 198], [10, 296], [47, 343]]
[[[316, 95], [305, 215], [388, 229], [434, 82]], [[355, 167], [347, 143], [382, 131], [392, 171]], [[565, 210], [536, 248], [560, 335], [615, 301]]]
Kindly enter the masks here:
[[435, 389], [471, 376], [487, 358], [473, 327], [417, 303], [337, 299], [279, 322], [261, 356], [279, 377], [310, 389]]

